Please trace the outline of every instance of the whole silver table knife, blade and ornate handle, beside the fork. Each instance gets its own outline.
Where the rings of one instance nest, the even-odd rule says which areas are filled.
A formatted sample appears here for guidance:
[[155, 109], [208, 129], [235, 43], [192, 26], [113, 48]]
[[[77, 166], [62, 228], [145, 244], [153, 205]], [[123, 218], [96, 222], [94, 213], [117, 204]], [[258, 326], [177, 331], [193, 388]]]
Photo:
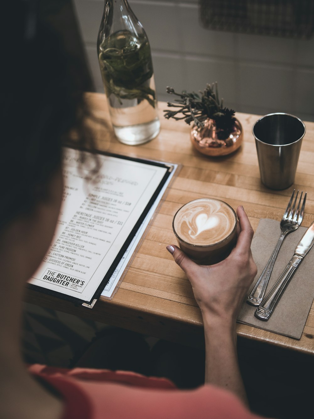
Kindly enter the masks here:
[[290, 259], [288, 265], [283, 270], [281, 276], [275, 282], [272, 289], [263, 301], [260, 303], [260, 306], [255, 311], [255, 317], [259, 318], [260, 320], [268, 320], [273, 313], [278, 301], [283, 295], [284, 290], [286, 289], [288, 283], [290, 282], [291, 278], [293, 277], [294, 272], [298, 268], [301, 261], [306, 256], [306, 253], [310, 250], [310, 248], [314, 244], [314, 221], [309, 226], [309, 228], [304, 233], [303, 237], [299, 241], [298, 245], [296, 246], [296, 250], [294, 251], [294, 255]]

